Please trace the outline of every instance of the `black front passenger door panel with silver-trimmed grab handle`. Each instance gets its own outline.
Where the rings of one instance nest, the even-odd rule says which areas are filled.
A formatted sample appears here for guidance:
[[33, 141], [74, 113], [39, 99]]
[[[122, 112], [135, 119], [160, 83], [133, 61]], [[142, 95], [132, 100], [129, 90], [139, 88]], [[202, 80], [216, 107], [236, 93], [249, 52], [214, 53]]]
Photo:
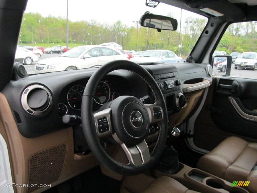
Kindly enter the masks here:
[[212, 150], [228, 136], [257, 141], [257, 80], [216, 77], [194, 125], [194, 143]]

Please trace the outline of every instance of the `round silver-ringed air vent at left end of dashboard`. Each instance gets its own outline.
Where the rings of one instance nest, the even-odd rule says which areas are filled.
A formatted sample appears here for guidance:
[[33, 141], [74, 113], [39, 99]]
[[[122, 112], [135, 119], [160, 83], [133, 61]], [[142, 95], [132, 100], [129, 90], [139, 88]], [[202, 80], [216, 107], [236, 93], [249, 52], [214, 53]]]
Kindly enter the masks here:
[[43, 115], [52, 105], [52, 95], [46, 87], [34, 84], [23, 91], [21, 104], [23, 109], [31, 115]]

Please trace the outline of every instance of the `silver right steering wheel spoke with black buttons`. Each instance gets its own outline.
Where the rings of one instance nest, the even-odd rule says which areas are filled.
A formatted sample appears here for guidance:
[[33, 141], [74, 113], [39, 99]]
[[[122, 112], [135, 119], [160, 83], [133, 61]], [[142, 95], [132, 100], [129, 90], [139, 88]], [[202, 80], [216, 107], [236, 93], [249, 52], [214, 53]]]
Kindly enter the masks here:
[[158, 123], [163, 120], [163, 109], [156, 104], [144, 104], [149, 115], [150, 124]]

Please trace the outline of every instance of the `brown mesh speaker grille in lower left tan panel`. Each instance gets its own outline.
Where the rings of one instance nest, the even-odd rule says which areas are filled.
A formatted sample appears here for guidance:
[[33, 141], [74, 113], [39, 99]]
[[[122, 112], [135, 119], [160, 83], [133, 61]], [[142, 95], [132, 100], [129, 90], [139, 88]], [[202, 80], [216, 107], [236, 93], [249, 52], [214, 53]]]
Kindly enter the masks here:
[[[33, 192], [59, 179], [66, 157], [66, 144], [33, 154], [29, 159], [29, 188]], [[38, 187], [35, 187], [37, 184]], [[31, 185], [33, 187], [31, 187]]]

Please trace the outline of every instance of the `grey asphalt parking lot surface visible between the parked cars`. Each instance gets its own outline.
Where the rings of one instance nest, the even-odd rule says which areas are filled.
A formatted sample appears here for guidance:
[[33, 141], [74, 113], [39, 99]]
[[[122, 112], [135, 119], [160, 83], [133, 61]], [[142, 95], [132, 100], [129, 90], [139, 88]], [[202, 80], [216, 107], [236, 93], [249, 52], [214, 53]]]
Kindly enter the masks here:
[[[45, 59], [45, 58], [58, 57], [60, 55], [61, 54], [44, 54], [43, 56], [41, 56], [38, 59], [38, 61], [40, 61], [42, 59]], [[29, 75], [30, 74], [35, 74], [35, 65], [36, 65], [36, 62], [33, 62], [31, 65], [24, 65], [24, 67], [26, 68], [27, 73]], [[224, 74], [224, 73], [220, 73], [220, 71], [216, 70], [216, 67], [214, 67], [214, 72], [215, 72], [216, 75]], [[249, 69], [242, 69], [242, 68], [235, 69], [235, 65], [232, 64], [230, 76], [231, 77], [238, 77], [238, 78], [253, 78], [253, 79], [256, 79], [257, 70], [252, 71], [252, 70], [249, 70]]]

